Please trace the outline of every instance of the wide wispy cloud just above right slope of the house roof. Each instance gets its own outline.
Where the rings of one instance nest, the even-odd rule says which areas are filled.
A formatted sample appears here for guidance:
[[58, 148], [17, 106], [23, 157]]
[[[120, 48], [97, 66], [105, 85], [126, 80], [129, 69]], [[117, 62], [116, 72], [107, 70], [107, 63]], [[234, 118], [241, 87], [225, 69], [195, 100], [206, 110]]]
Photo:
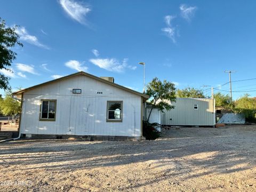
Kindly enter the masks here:
[[102, 68], [102, 69], [106, 69], [108, 71], [113, 71], [113, 72], [117, 72], [117, 73], [122, 73], [125, 68], [129, 68], [129, 69], [136, 69], [136, 66], [131, 66], [127, 64], [128, 59], [125, 58], [123, 60], [123, 62], [119, 62], [117, 59], [115, 58], [111, 58], [111, 59], [90, 59], [90, 62], [93, 63], [94, 65]]

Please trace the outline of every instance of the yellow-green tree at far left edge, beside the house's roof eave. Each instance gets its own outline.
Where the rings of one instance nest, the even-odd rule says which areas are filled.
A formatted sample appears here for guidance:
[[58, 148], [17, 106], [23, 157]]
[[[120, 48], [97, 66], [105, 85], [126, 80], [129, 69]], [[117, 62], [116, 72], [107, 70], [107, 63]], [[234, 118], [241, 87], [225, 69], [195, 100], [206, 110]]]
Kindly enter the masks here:
[[6, 116], [14, 116], [21, 113], [20, 102], [12, 98], [11, 92], [6, 92], [5, 98], [0, 100], [1, 112]]

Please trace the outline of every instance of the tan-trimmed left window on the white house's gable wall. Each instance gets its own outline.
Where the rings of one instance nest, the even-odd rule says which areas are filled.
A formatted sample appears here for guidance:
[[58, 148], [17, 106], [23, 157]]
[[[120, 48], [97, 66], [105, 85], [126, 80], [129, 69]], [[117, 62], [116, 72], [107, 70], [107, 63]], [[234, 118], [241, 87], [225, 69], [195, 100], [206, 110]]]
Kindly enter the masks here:
[[40, 121], [55, 121], [57, 100], [41, 100]]

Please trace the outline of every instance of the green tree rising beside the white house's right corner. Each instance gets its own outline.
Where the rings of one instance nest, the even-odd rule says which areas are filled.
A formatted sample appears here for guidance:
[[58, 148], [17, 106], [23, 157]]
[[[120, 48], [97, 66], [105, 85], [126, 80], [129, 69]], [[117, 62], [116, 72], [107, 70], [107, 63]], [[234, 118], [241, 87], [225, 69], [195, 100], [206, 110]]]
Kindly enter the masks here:
[[146, 94], [150, 96], [149, 102], [152, 105], [147, 122], [149, 121], [153, 108], [157, 107], [162, 112], [164, 109], [171, 110], [174, 108], [174, 106], [168, 103], [168, 101], [176, 101], [175, 85], [173, 83], [167, 82], [166, 80], [161, 82], [157, 77], [155, 77], [150, 83], [148, 83]]

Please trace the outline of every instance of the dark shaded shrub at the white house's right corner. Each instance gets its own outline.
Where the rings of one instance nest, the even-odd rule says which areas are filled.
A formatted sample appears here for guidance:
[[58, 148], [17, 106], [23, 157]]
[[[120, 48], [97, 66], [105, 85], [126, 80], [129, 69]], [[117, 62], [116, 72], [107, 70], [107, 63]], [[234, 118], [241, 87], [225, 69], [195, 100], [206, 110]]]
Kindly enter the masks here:
[[156, 127], [160, 127], [158, 123], [149, 123], [143, 121], [142, 134], [147, 140], [155, 140], [160, 137], [160, 132], [157, 131]]

